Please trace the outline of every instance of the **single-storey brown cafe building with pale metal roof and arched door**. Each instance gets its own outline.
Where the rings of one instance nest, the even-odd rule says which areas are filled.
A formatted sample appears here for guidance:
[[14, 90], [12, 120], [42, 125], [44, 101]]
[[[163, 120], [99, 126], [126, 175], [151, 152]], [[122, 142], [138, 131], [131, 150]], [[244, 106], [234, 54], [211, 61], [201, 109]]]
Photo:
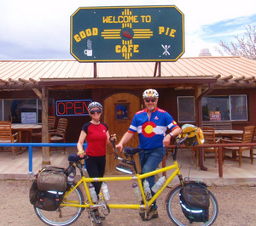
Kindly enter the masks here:
[[[79, 63], [67, 60], [1, 60], [0, 118], [42, 123], [68, 120], [66, 142], [76, 143], [90, 121], [87, 105], [98, 101], [110, 133], [118, 139], [143, 109], [143, 91], [160, 93], [159, 107], [177, 124], [230, 121], [233, 129], [256, 125], [255, 60], [199, 56], [176, 62]], [[45, 142], [45, 141], [44, 141]], [[137, 145], [137, 138], [131, 141]]]

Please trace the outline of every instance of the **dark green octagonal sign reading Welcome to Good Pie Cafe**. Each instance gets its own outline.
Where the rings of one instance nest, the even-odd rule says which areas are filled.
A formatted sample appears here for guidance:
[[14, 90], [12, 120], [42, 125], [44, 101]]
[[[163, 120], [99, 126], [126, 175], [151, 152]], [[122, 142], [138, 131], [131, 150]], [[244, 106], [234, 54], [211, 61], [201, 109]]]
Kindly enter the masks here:
[[79, 62], [176, 61], [184, 53], [184, 15], [176, 6], [79, 8], [70, 39]]

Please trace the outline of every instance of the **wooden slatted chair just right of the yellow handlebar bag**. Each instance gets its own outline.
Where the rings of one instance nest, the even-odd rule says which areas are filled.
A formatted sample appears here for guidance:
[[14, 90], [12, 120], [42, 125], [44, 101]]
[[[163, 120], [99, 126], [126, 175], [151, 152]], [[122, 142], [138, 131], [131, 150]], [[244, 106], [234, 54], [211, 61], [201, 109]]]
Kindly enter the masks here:
[[[218, 144], [220, 139], [215, 138], [215, 128], [213, 127], [202, 127], [202, 132], [204, 134], [205, 142], [204, 144]], [[218, 161], [218, 147], [203, 148], [204, 160], [207, 158], [212, 158], [212, 156], [207, 156], [207, 153], [214, 153], [215, 167], [217, 167]]]

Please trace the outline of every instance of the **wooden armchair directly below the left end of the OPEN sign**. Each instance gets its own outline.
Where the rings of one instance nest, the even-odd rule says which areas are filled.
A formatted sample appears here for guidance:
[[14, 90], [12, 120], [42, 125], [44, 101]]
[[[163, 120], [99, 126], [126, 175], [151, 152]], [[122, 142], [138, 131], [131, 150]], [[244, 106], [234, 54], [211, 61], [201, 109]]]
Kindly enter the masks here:
[[[56, 129], [49, 130], [49, 142], [50, 143], [66, 143], [66, 131], [67, 131], [67, 118], [60, 118]], [[51, 150], [64, 150], [66, 147], [50, 148]]]

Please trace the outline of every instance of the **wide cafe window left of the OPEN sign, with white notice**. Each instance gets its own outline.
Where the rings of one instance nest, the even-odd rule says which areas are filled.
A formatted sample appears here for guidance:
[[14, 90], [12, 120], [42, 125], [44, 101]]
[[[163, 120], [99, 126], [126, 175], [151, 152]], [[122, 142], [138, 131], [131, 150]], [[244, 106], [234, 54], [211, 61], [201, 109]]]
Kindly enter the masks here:
[[[40, 99], [3, 99], [0, 116], [3, 121], [13, 123], [42, 122], [42, 102]], [[49, 110], [54, 108], [54, 100], [49, 99]], [[53, 111], [54, 112], [54, 111]], [[49, 116], [52, 113], [49, 112]]]

